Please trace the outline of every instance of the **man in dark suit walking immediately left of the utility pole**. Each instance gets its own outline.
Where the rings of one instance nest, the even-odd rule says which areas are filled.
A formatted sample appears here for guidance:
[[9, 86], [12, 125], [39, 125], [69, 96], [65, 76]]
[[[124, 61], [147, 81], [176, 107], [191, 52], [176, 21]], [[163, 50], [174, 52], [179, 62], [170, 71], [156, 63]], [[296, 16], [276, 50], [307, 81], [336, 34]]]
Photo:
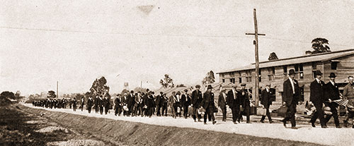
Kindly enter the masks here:
[[[250, 102], [250, 98], [249, 98], [249, 92], [246, 90], [246, 83], [242, 83], [241, 84], [241, 90], [239, 92], [239, 97], [240, 97], [240, 102], [241, 102], [241, 106], [242, 109], [244, 109], [244, 114], [246, 114], [246, 123], [251, 123], [250, 118], [249, 118], [249, 113], [251, 111], [251, 102]], [[242, 118], [242, 113], [240, 112], [239, 114], [239, 123], [240, 120]]]

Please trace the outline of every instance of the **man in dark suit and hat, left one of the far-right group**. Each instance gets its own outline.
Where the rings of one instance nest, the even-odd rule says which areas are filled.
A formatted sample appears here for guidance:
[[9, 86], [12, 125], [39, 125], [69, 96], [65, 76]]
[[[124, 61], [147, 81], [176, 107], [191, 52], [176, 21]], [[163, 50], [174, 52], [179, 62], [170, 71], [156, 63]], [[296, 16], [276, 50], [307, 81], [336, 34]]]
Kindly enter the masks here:
[[310, 84], [310, 102], [314, 104], [316, 108], [316, 112], [314, 116], [312, 116], [311, 120], [309, 121], [312, 123], [312, 127], [316, 127], [314, 123], [316, 119], [319, 118], [319, 122], [321, 123], [321, 128], [327, 128], [326, 123], [324, 121], [324, 111], [322, 109], [322, 104], [326, 102], [326, 97], [324, 97], [324, 81], [321, 80], [322, 73], [321, 71], [315, 72], [316, 78]]

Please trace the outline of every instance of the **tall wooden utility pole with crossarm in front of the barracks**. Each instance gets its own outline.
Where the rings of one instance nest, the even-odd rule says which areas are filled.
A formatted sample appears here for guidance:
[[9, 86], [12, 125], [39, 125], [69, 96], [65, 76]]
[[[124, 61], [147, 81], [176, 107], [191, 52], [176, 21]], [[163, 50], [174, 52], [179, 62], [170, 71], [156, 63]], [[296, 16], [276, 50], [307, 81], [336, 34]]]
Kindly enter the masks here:
[[254, 33], [246, 33], [246, 35], [254, 35], [254, 51], [256, 57], [256, 85], [254, 87], [254, 94], [256, 99], [256, 107], [258, 107], [259, 101], [259, 59], [258, 59], [258, 35], [265, 35], [265, 34], [258, 34], [258, 25], [257, 25], [257, 17], [256, 17], [256, 8], [253, 8], [253, 20], [254, 20]]

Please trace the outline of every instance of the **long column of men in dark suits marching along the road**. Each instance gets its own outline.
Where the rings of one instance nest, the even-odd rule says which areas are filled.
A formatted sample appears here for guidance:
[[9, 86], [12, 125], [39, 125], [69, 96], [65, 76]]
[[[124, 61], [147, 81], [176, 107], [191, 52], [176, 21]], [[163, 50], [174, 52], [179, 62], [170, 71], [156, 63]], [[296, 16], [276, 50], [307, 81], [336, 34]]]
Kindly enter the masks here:
[[[334, 118], [336, 128], [341, 128], [338, 120], [338, 103], [332, 102], [338, 99], [349, 99], [349, 104], [354, 106], [354, 85], [353, 76], [349, 76], [349, 83], [344, 87], [343, 97], [340, 97], [338, 85], [335, 83], [336, 75], [331, 73], [328, 83], [324, 83], [321, 80], [322, 73], [316, 71], [316, 78], [310, 85], [310, 104], [312, 104], [316, 111], [314, 112], [312, 119], [309, 123], [315, 127], [316, 118], [319, 118], [321, 128], [327, 128], [326, 123], [331, 117]], [[202, 115], [204, 116], [204, 123], [207, 124], [207, 119], [215, 124], [215, 112], [221, 109], [222, 121], [227, 119], [227, 109], [232, 111], [232, 121], [234, 124], [243, 121], [242, 116], [246, 116], [246, 123], [251, 123], [251, 96], [249, 91], [246, 90], [246, 84], [241, 84], [241, 90], [237, 90], [237, 85], [232, 87], [232, 90], [226, 92], [226, 90], [220, 89], [219, 98], [215, 102], [214, 93], [212, 92], [212, 86], [208, 85], [207, 90], [202, 93], [200, 91], [200, 85], [195, 86], [195, 90], [188, 93], [188, 90], [183, 92], [172, 92], [172, 95], [167, 97], [164, 92], [160, 92], [159, 95], [155, 95], [153, 91], [147, 89], [146, 92], [134, 92], [130, 91], [124, 94], [118, 94], [113, 100], [113, 105], [110, 103], [108, 96], [96, 96], [89, 97], [85, 101], [84, 97], [81, 97], [79, 103], [81, 111], [86, 109], [91, 113], [91, 109], [95, 109], [96, 113], [108, 114], [110, 109], [114, 110], [115, 116], [167, 116], [167, 111], [170, 109], [171, 116], [173, 118], [183, 117], [188, 118], [191, 116], [195, 122], [200, 121]], [[304, 99], [300, 98], [299, 83], [295, 80], [295, 71], [291, 69], [289, 71], [289, 78], [283, 83], [283, 105], [286, 107], [285, 118], [282, 120], [283, 125], [286, 127], [287, 121], [291, 122], [291, 128], [297, 129], [295, 121], [296, 107], [298, 104], [302, 104]], [[269, 107], [274, 101], [272, 92], [270, 91], [270, 84], [265, 85], [265, 89], [261, 92], [261, 107], [265, 109], [265, 114], [261, 118], [261, 123], [264, 123], [265, 117], [268, 117], [269, 123], [273, 123], [270, 116]], [[46, 107], [46, 108], [69, 108], [73, 107], [76, 111], [76, 99], [45, 99], [38, 102], [33, 102], [34, 106]], [[215, 105], [217, 103], [217, 105]], [[324, 108], [328, 107], [328, 111], [331, 111], [331, 115], [324, 117]], [[353, 119], [354, 108], [349, 108], [347, 111], [346, 120], [344, 126], [348, 126], [348, 118]], [[353, 122], [354, 123], [354, 122]], [[354, 128], [354, 125], [353, 125]]]

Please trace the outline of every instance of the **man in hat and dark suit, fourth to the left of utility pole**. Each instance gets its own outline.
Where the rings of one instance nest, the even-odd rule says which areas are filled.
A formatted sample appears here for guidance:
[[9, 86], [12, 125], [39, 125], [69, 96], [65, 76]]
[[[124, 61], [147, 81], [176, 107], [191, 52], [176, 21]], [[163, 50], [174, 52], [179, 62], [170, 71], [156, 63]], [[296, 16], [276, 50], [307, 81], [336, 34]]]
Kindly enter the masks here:
[[204, 93], [202, 98], [202, 108], [205, 109], [204, 114], [204, 124], [207, 124], [207, 116], [211, 116], [212, 124], [217, 123], [214, 117], [214, 93], [212, 92], [212, 85], [207, 85], [207, 91]]

